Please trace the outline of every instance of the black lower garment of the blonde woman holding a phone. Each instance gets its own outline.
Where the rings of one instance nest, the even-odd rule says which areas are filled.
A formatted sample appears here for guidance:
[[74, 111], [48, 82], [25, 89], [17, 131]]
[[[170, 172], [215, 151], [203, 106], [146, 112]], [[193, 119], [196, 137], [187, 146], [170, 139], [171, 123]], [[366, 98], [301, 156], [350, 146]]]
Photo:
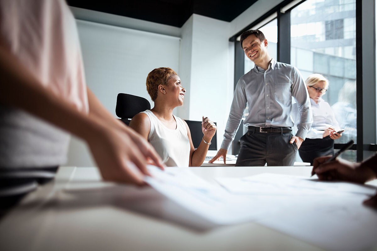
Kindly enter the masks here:
[[329, 136], [325, 138], [307, 138], [302, 142], [299, 154], [302, 161], [309, 162], [313, 166], [315, 158], [334, 155], [334, 140]]

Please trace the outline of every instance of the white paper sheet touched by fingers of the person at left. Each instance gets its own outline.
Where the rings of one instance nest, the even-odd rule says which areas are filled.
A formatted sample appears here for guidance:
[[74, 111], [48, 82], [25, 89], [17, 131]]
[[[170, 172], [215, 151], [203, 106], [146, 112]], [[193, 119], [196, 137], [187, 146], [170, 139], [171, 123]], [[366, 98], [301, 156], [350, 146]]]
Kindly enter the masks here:
[[244, 196], [231, 195], [221, 187], [202, 180], [190, 170], [176, 168], [163, 172], [154, 166], [149, 166], [148, 169], [153, 178], [146, 177], [145, 181], [150, 186], [213, 224], [247, 222], [275, 210], [270, 205], [258, 206], [260, 204], [257, 199], [248, 200]]

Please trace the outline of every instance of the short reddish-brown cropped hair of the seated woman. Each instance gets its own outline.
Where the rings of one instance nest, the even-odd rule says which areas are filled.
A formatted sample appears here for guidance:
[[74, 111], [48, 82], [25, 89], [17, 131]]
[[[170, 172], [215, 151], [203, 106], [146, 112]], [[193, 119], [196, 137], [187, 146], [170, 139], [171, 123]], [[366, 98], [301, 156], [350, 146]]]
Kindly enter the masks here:
[[160, 67], [152, 70], [147, 76], [147, 91], [152, 99], [155, 101], [158, 93], [159, 85], [168, 85], [169, 79], [173, 75], [178, 75], [172, 68]]

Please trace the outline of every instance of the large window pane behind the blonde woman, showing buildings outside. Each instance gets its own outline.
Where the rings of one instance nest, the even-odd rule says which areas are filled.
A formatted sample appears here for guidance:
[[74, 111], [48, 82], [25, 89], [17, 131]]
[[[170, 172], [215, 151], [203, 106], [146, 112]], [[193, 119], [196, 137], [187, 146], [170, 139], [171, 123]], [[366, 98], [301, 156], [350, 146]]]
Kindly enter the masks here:
[[[307, 0], [293, 8], [291, 64], [304, 79], [320, 73], [329, 80], [322, 98], [345, 129], [335, 143], [356, 142], [356, 0]], [[356, 152], [347, 154], [356, 161]]]

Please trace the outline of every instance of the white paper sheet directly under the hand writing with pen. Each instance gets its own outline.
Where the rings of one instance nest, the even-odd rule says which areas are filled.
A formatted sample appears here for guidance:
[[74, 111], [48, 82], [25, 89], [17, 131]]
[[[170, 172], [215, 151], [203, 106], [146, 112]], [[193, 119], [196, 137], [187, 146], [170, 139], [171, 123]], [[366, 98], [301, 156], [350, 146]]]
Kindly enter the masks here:
[[248, 195], [334, 195], [338, 193], [355, 193], [374, 195], [376, 188], [371, 186], [318, 181], [300, 176], [262, 173], [245, 178], [215, 178], [229, 192]]

